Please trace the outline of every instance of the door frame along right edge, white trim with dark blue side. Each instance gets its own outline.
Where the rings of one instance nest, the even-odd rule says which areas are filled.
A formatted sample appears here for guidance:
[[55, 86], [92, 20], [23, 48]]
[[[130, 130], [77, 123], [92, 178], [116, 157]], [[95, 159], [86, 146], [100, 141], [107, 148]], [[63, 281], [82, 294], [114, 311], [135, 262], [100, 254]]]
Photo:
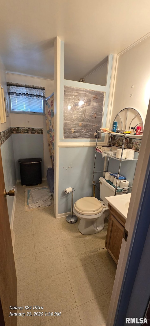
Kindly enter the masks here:
[[[150, 102], [145, 119], [144, 132], [135, 171], [127, 220], [125, 224], [125, 229], [128, 231], [128, 238], [127, 242], [124, 239], [122, 240], [106, 326], [118, 326], [120, 325], [120, 317], [122, 321], [123, 318], [125, 319], [131, 297], [131, 291], [148, 231], [149, 221], [146, 219], [146, 216], [143, 216], [142, 214], [142, 206], [144, 205], [144, 194], [148, 185], [150, 173], [149, 121]], [[139, 246], [140, 235], [141, 238]], [[133, 259], [134, 265], [132, 264]]]

